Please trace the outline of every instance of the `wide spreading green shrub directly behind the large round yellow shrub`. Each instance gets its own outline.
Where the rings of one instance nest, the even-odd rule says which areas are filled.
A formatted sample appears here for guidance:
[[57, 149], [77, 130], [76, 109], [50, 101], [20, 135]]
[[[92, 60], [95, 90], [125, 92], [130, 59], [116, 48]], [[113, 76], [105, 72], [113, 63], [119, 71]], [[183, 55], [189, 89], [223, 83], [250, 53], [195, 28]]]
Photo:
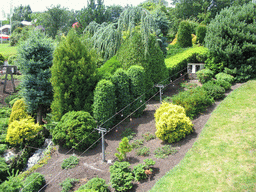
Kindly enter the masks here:
[[191, 119], [214, 103], [214, 99], [202, 87], [180, 92], [172, 97], [172, 101], [184, 107], [186, 115]]

